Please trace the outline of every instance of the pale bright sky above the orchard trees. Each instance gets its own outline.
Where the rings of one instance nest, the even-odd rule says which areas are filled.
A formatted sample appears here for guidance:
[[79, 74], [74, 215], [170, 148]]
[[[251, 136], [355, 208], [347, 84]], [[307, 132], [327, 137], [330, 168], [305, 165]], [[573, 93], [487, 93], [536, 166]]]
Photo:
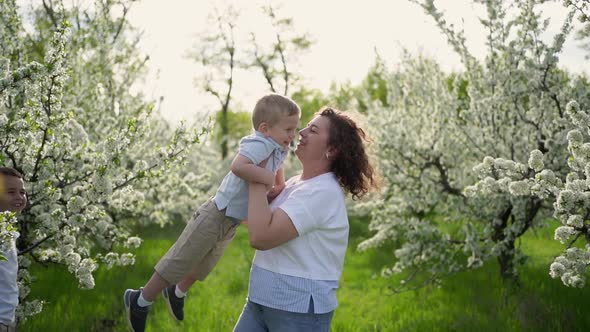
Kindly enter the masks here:
[[[260, 10], [268, 3], [268, 0], [142, 0], [135, 4], [129, 20], [143, 32], [140, 48], [150, 56], [149, 74], [136, 88], [152, 98], [163, 97], [160, 112], [171, 123], [183, 119], [190, 122], [196, 114], [218, 110], [216, 100], [196, 87], [195, 79], [203, 71], [187, 54], [196, 45], [198, 34], [207, 30], [210, 22], [207, 17], [214, 6], [223, 8], [232, 4], [240, 10], [241, 16], [235, 22], [238, 49], [248, 46], [245, 36], [250, 31], [262, 37], [268, 35], [268, 21]], [[314, 40], [312, 47], [296, 59], [296, 72], [302, 75], [307, 88], [326, 92], [332, 82], [361, 82], [374, 64], [375, 52], [388, 65], [397, 63], [402, 50], [407, 49], [412, 54], [433, 57], [446, 70], [462, 68], [459, 57], [448, 46], [434, 20], [410, 1], [271, 0], [270, 3], [280, 6], [279, 15], [293, 18], [296, 31], [308, 33]], [[485, 30], [479, 18], [484, 17], [485, 8], [469, 0], [439, 0], [435, 4], [445, 12], [447, 21], [464, 28], [468, 47], [483, 59]], [[551, 17], [544, 36], [550, 40], [559, 31], [566, 10], [558, 2], [541, 8]], [[579, 44], [571, 35], [568, 37], [560, 65], [571, 71], [590, 73], [590, 61], [584, 59], [587, 52]], [[236, 72], [234, 106], [250, 110], [267, 92], [260, 73]]]

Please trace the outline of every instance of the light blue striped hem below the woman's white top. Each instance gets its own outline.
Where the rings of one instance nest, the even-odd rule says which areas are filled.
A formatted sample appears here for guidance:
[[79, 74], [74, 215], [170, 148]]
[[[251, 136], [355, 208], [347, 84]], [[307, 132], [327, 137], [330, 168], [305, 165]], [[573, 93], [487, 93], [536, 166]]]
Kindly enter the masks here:
[[308, 313], [313, 298], [313, 313], [334, 311], [337, 280], [313, 280], [265, 270], [252, 264], [248, 299], [251, 302], [289, 312]]

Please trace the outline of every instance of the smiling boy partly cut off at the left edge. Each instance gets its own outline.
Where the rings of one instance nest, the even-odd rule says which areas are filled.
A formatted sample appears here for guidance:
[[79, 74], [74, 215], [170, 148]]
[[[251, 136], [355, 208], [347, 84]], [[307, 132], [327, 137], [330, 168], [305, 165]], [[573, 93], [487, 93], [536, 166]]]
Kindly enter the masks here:
[[[20, 213], [27, 205], [27, 193], [23, 176], [10, 167], [0, 167], [0, 212]], [[2, 251], [7, 260], [0, 261], [0, 332], [16, 331], [14, 313], [18, 305], [18, 259], [16, 238], [8, 250]]]

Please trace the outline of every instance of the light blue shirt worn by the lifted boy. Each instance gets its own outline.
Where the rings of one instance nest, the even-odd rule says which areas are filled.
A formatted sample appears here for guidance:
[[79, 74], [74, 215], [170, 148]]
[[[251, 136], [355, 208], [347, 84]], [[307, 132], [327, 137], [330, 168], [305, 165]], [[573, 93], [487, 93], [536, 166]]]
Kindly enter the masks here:
[[[266, 169], [276, 173], [283, 165], [288, 151], [272, 138], [256, 131], [240, 140], [238, 153], [250, 159], [255, 165], [270, 156]], [[227, 173], [213, 199], [219, 210], [226, 209], [226, 217], [234, 221], [248, 219], [248, 183], [234, 173]]]

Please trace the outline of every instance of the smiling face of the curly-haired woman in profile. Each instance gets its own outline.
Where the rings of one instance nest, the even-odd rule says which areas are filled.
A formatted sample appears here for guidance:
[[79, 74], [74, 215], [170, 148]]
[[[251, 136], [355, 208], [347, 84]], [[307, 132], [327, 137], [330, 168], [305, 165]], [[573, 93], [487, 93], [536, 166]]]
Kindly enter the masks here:
[[299, 131], [299, 144], [295, 153], [303, 162], [305, 159], [318, 160], [326, 158], [328, 151], [328, 137], [330, 134], [330, 119], [318, 115]]

